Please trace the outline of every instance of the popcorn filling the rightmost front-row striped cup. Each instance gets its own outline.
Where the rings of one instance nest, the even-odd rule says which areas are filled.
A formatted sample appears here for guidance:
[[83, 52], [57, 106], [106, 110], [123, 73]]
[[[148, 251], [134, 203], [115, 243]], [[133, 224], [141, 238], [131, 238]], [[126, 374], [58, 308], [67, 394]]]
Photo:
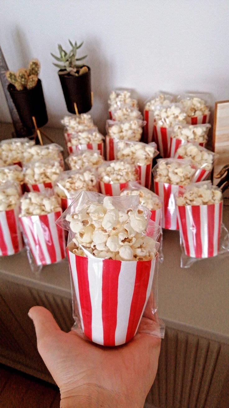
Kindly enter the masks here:
[[200, 187], [190, 186], [183, 195], [177, 197], [177, 206], [219, 203], [222, 200], [222, 192], [219, 189], [209, 188], [209, 186], [212, 187], [211, 184], [204, 184]]

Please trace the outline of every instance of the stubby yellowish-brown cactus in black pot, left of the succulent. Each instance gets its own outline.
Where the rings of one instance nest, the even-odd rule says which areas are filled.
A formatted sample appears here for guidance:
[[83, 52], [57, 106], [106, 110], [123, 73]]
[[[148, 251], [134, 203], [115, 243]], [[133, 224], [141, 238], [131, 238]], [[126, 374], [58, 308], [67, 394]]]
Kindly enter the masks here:
[[9, 81], [7, 89], [22, 124], [30, 130], [35, 128], [33, 116], [38, 128], [48, 122], [41, 80], [38, 78], [39, 71], [39, 61], [33, 59], [30, 61], [28, 69], [21, 68], [17, 73], [6, 72], [6, 78]]

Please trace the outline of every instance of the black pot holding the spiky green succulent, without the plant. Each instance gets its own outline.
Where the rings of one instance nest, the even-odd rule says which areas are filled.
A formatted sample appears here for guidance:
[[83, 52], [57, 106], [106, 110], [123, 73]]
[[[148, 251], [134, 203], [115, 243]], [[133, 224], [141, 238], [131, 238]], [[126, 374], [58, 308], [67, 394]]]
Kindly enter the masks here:
[[87, 68], [88, 72], [79, 76], [59, 75], [66, 106], [70, 113], [76, 113], [74, 102], [78, 113], [86, 113], [92, 108], [91, 69]]

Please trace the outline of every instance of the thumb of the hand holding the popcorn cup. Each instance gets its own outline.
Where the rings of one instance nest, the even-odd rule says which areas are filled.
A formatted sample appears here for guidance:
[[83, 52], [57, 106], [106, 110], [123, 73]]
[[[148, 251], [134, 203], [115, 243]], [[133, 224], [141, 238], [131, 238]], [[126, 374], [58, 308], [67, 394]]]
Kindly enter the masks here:
[[37, 343], [44, 340], [44, 338], [51, 337], [55, 332], [61, 331], [52, 313], [42, 306], [33, 306], [28, 311], [28, 316], [33, 320]]

